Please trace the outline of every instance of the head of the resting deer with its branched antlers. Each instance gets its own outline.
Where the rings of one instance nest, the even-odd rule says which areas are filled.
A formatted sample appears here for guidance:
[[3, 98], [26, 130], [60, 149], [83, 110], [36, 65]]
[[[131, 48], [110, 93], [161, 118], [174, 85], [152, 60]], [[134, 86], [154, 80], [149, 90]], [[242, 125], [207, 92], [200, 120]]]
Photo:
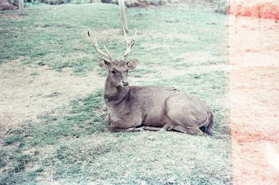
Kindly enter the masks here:
[[100, 48], [98, 47], [96, 37], [91, 35], [90, 30], [88, 31], [88, 36], [89, 38], [91, 38], [92, 46], [94, 47], [96, 52], [102, 55], [102, 57], [98, 57], [98, 64], [100, 68], [107, 69], [107, 78], [110, 79], [110, 82], [114, 87], [128, 86], [129, 84], [127, 80], [128, 71], [133, 70], [138, 64], [137, 59], [133, 59], [130, 61], [126, 60], [130, 53], [130, 50], [132, 49], [135, 43], [135, 36], [137, 36], [137, 29], [135, 29], [135, 36], [133, 40], [131, 40], [130, 42], [126, 36], [125, 29], [123, 29], [123, 33], [126, 39], [127, 49], [122, 59], [116, 60], [112, 58], [112, 55], [110, 54], [110, 52], [108, 52], [107, 47], [105, 47], [105, 45], [104, 45], [105, 52], [100, 50]]

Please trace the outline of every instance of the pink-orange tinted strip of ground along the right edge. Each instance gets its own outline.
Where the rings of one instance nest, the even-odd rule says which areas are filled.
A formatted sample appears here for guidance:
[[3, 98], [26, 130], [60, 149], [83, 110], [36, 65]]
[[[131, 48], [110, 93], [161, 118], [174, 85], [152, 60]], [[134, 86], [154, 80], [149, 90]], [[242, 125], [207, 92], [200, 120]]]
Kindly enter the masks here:
[[279, 182], [279, 24], [229, 17], [234, 184]]

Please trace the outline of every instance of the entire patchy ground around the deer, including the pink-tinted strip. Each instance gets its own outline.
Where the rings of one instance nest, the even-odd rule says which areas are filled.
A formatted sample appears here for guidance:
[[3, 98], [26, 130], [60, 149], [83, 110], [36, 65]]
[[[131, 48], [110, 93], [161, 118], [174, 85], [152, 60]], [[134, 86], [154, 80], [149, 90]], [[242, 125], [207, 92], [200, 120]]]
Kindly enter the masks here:
[[69, 4], [0, 15], [1, 184], [274, 184], [278, 24], [208, 6], [128, 9], [138, 30], [130, 59], [140, 59], [131, 84], [198, 96], [215, 133], [110, 133], [105, 72], [86, 30], [120, 57], [125, 40], [108, 18], [118, 11]]

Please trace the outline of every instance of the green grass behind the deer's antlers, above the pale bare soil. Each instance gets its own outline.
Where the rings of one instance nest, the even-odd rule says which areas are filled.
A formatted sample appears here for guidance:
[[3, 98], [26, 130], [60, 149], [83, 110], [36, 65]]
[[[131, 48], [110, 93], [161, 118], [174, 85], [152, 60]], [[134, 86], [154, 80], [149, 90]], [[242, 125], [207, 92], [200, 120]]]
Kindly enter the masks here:
[[[119, 20], [115, 19], [118, 12], [116, 5], [100, 3], [33, 6], [21, 17], [16, 11], [5, 12], [0, 22], [0, 63], [20, 58], [24, 64], [47, 65], [56, 71], [70, 67], [80, 73], [96, 68], [93, 47], [86, 40], [89, 28], [96, 31], [99, 45], [105, 44], [113, 56], [120, 59], [126, 44]], [[214, 14], [210, 8], [132, 8], [128, 9], [127, 17], [129, 27], [138, 30], [130, 59], [140, 59], [142, 65], [193, 64], [191, 57], [181, 55], [185, 52], [196, 55], [197, 51], [210, 51], [213, 56], [197, 62], [223, 56], [220, 44], [226, 39], [225, 17]], [[203, 29], [199, 29], [200, 26]], [[130, 32], [133, 35], [133, 29]]]

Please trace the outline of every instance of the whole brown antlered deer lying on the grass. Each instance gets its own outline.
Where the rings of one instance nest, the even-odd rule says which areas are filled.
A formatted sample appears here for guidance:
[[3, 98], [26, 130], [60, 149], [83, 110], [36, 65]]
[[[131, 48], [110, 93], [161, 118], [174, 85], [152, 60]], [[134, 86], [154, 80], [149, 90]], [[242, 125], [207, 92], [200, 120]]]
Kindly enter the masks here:
[[125, 29], [127, 49], [121, 59], [113, 59], [104, 45], [100, 50], [95, 34], [87, 32], [98, 57], [100, 68], [107, 70], [103, 98], [107, 107], [110, 131], [176, 131], [191, 135], [211, 134], [213, 113], [208, 105], [186, 92], [173, 87], [130, 86], [128, 72], [139, 63], [127, 60], [135, 43], [129, 41]]

